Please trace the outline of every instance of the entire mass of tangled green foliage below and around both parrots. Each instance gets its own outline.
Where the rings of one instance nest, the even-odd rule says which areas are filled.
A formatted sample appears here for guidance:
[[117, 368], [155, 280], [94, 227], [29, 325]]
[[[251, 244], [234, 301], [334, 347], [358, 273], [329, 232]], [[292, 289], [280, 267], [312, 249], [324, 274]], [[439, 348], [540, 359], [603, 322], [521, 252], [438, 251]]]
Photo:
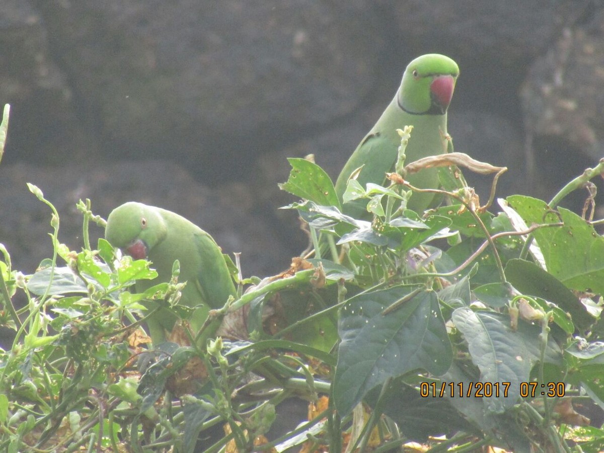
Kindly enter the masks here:
[[[302, 199], [288, 208], [315, 257], [263, 280], [228, 259], [237, 297], [199, 332], [178, 265], [158, 281], [153, 263], [103, 239], [92, 248], [104, 220], [89, 200], [82, 248], [69, 249], [28, 185], [50, 210], [54, 252], [24, 273], [0, 244], [0, 323], [15, 332], [0, 349], [0, 451], [602, 451], [604, 430], [571, 406], [604, 407], [594, 222], [520, 195], [492, 214], [458, 191], [421, 215], [400, 185], [352, 180], [344, 199], [373, 217], [356, 219], [318, 165], [289, 160], [281, 188]], [[154, 286], [137, 294], [137, 280]], [[146, 300], [181, 320], [173, 342], [149, 343]], [[290, 397], [314, 412], [275, 439]]]

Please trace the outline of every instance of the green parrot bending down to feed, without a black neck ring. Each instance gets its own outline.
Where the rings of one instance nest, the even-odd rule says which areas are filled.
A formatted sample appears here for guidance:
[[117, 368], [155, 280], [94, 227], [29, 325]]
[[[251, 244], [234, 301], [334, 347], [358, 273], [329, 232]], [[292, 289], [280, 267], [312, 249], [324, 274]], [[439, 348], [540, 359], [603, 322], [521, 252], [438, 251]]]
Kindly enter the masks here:
[[[128, 202], [109, 214], [105, 238], [133, 259], [146, 258], [153, 263], [158, 278], [138, 280], [138, 292], [170, 280], [172, 266], [179, 260], [179, 282], [187, 282], [180, 303], [201, 305], [190, 318], [193, 332], [201, 328], [210, 309], [222, 307], [230, 295], [236, 295], [220, 247], [208, 233], [178, 214]], [[155, 306], [153, 303], [148, 308]], [[165, 341], [165, 332], [171, 332], [175, 322], [176, 316], [167, 309], [149, 318], [147, 325], [154, 345]]]

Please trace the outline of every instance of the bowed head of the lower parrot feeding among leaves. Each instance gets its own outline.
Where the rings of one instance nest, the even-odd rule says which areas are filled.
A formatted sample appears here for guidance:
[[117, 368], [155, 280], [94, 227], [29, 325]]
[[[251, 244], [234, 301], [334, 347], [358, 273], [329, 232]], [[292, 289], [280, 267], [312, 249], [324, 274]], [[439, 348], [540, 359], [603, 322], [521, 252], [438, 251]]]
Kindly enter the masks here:
[[135, 260], [145, 259], [166, 234], [167, 227], [159, 211], [142, 203], [127, 202], [107, 217], [105, 239]]

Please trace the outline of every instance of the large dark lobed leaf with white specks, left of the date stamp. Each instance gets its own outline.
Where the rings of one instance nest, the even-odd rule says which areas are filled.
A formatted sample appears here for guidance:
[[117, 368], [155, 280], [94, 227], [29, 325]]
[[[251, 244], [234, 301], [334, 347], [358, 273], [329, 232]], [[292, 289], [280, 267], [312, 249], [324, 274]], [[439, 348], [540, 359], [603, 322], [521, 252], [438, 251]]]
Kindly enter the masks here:
[[439, 375], [451, 365], [451, 343], [433, 291], [421, 292], [382, 315], [413, 289], [395, 286], [362, 293], [342, 309], [333, 381], [333, 399], [341, 416], [388, 377], [416, 369]]

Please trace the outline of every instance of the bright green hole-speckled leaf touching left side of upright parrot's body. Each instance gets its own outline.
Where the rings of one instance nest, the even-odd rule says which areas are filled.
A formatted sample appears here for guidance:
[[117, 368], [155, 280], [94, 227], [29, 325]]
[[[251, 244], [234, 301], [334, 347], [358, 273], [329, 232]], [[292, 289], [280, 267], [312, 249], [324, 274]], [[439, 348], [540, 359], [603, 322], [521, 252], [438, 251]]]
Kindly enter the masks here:
[[321, 206], [335, 206], [339, 208], [333, 182], [319, 165], [301, 158], [288, 158], [292, 170], [289, 179], [279, 184], [281, 190], [310, 200]]

